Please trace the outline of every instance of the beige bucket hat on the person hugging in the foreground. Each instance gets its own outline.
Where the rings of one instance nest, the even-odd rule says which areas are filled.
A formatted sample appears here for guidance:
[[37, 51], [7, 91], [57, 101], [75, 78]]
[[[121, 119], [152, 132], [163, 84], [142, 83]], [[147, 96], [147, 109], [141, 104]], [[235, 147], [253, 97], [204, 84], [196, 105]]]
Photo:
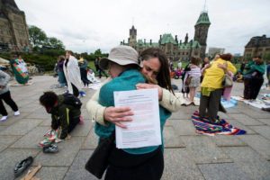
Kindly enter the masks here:
[[101, 58], [99, 61], [99, 67], [102, 69], [108, 68], [109, 60], [115, 62], [121, 66], [136, 64], [138, 63], [139, 54], [130, 46], [120, 45], [112, 48], [108, 58]]

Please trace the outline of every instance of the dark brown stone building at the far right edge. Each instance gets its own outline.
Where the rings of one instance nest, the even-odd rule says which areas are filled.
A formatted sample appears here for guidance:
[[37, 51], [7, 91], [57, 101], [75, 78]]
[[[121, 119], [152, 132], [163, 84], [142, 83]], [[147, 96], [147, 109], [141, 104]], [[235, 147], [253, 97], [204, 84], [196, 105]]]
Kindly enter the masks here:
[[244, 58], [251, 59], [257, 55], [270, 57], [270, 38], [266, 38], [266, 35], [251, 38], [245, 46]]

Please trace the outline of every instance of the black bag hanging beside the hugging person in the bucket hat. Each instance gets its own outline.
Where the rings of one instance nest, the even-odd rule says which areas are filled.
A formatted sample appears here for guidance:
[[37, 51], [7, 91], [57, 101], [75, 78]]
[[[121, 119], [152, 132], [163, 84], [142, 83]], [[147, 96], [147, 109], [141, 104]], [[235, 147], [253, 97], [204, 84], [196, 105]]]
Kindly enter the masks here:
[[93, 154], [85, 164], [85, 169], [99, 179], [103, 177], [103, 173], [109, 165], [108, 159], [111, 155], [113, 146], [115, 146], [114, 139], [115, 131], [112, 132], [112, 135], [109, 138], [100, 139]]

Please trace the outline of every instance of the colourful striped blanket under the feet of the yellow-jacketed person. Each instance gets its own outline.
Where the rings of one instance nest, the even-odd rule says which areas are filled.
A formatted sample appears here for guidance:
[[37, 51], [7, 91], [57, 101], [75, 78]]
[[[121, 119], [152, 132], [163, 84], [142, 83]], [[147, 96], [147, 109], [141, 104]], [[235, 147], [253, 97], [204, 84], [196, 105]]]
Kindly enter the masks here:
[[224, 135], [243, 135], [246, 134], [246, 130], [240, 130], [233, 127], [224, 119], [221, 119], [219, 123], [212, 123], [207, 118], [200, 118], [199, 112], [194, 112], [192, 115], [192, 121], [196, 128], [196, 132], [200, 134], [214, 136], [216, 134]]

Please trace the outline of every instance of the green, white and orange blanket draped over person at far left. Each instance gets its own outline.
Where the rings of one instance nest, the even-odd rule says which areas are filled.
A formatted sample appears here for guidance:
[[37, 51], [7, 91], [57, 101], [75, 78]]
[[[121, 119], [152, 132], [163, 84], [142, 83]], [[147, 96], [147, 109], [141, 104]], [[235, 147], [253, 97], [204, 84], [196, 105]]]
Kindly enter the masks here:
[[28, 71], [23, 59], [14, 59], [10, 61], [16, 81], [19, 84], [26, 84], [29, 79]]

